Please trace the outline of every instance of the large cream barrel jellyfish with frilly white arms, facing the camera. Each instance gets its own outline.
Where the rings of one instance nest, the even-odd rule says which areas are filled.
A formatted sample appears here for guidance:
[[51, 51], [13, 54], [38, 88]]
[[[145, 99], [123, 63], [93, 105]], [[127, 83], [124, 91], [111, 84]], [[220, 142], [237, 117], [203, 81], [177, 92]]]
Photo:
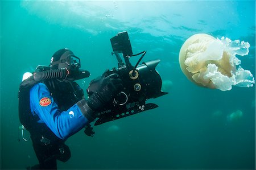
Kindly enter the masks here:
[[243, 69], [236, 55], [249, 53], [250, 44], [208, 34], [195, 34], [182, 45], [179, 63], [182, 72], [196, 85], [222, 91], [232, 86], [251, 87], [253, 74]]

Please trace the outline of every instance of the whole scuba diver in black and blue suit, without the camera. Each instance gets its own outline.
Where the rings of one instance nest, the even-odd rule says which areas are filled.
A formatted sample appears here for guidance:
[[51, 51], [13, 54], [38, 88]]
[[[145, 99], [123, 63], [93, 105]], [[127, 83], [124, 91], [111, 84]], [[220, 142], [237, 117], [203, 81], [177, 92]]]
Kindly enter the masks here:
[[[30, 132], [38, 165], [27, 169], [57, 169], [57, 160], [71, 157], [65, 140], [97, 117], [97, 112], [121, 92], [122, 80], [117, 73], [102, 74], [98, 86], [88, 99], [73, 80], [81, 77], [80, 59], [67, 48], [55, 52], [49, 67], [35, 71], [19, 87], [19, 119]], [[44, 72], [47, 70], [46, 72]], [[40, 72], [43, 74], [40, 75]], [[59, 73], [65, 73], [58, 76]], [[84, 77], [89, 77], [85, 71]], [[57, 76], [56, 76], [57, 75]], [[38, 78], [39, 77], [39, 78]]]

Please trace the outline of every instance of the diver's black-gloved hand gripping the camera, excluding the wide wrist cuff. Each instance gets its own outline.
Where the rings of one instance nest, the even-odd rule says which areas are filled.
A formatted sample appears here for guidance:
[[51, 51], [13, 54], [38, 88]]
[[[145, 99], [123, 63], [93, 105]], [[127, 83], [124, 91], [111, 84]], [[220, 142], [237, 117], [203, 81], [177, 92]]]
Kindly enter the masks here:
[[94, 111], [100, 111], [104, 106], [113, 101], [113, 98], [121, 92], [122, 80], [116, 73], [102, 76], [95, 92], [88, 99], [88, 106]]

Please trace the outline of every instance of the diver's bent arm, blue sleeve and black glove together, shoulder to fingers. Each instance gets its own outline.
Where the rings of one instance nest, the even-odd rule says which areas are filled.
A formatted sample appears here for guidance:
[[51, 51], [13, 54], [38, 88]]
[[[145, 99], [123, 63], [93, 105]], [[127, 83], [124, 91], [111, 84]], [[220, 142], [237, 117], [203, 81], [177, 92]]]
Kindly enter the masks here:
[[[86, 123], [92, 122], [96, 118], [96, 112], [112, 101], [122, 89], [122, 81], [118, 74], [104, 74], [99, 82], [100, 85], [87, 101], [81, 99], [63, 112], [54, 102], [47, 86], [43, 83], [36, 84], [30, 90], [31, 113], [38, 114], [57, 137], [67, 139], [81, 130]], [[43, 102], [43, 99], [46, 99], [46, 102]], [[43, 102], [41, 105], [40, 101]]]

